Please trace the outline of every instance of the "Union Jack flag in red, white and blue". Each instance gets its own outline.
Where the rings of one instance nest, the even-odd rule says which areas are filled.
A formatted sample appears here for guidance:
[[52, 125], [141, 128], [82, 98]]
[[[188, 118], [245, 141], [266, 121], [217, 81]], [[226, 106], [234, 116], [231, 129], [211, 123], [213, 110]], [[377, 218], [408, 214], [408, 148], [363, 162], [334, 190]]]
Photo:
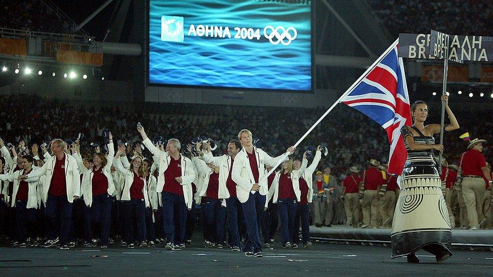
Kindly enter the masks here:
[[401, 136], [404, 125], [411, 126], [411, 107], [399, 39], [349, 88], [340, 101], [377, 122], [387, 132], [390, 144], [388, 173], [401, 175], [407, 158]]

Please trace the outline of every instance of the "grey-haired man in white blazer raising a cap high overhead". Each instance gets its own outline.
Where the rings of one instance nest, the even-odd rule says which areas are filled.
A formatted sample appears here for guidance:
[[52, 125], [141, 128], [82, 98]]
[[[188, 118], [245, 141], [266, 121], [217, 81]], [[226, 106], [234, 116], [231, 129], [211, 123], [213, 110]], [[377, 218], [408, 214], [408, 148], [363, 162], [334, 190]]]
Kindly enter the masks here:
[[[180, 154], [179, 140], [169, 139], [166, 150], [162, 151], [147, 137], [140, 124], [137, 125], [137, 131], [145, 147], [156, 156], [155, 162], [159, 162], [156, 192], [161, 192], [163, 203], [164, 233], [168, 239], [165, 248], [181, 250], [185, 247], [187, 209], [191, 209], [193, 203], [191, 184], [195, 181], [195, 172], [192, 161]], [[178, 224], [176, 228], [175, 223]], [[175, 234], [175, 230], [180, 233]]]

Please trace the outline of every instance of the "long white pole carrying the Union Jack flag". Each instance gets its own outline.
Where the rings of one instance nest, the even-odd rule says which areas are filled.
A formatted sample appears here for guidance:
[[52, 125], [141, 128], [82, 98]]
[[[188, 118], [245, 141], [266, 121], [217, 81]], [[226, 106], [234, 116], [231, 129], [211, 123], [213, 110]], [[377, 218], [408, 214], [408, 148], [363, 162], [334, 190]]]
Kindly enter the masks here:
[[[354, 82], [347, 90], [346, 92], [342, 93], [342, 95], [339, 97], [339, 99], [337, 99], [330, 107], [329, 109], [327, 109], [327, 112], [325, 112], [318, 120], [317, 122], [315, 122], [315, 124], [313, 124], [312, 127], [310, 127], [310, 129], [308, 129], [308, 131], [293, 145], [293, 147], [297, 147], [307, 136], [308, 134], [310, 134], [312, 132], [313, 129], [315, 129], [315, 127], [317, 127], [317, 125], [331, 112], [331, 110], [338, 104], [341, 102], [342, 98], [346, 97], [350, 92], [351, 90], [353, 90], [358, 84], [359, 82], [365, 78], [368, 73], [373, 69], [375, 68], [375, 66], [380, 63], [380, 61], [383, 59], [383, 57], [385, 57], [386, 54], [388, 54], [388, 52], [390, 52], [393, 47], [395, 47], [397, 44], [399, 43], [399, 38], [396, 39], [396, 41], [394, 41], [382, 54], [381, 56], [365, 71], [365, 73], [363, 73], [363, 75], [360, 76], [360, 78], [358, 78], [358, 80], [356, 80], [356, 82]], [[277, 167], [279, 166], [279, 164], [281, 164], [284, 159], [289, 155], [289, 152], [286, 152], [283, 154], [282, 158], [277, 161], [275, 167], [273, 167], [266, 175], [264, 175], [264, 177], [262, 178], [262, 180], [260, 180], [259, 184], [262, 184], [263, 182], [265, 182], [267, 180], [267, 178], [277, 169]], [[255, 191], [252, 191], [252, 194], [254, 194]]]

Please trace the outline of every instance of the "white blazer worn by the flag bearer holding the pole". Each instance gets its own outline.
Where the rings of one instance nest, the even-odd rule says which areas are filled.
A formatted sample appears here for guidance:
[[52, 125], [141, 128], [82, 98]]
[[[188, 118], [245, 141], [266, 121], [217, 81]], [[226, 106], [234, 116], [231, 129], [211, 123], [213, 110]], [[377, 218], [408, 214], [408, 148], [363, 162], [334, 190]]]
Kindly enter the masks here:
[[[254, 154], [257, 160], [257, 167], [259, 169], [259, 182], [264, 177], [265, 170], [264, 166], [269, 165], [274, 167], [276, 163], [282, 159], [282, 155], [275, 158], [269, 156], [264, 150], [256, 148], [254, 146]], [[255, 184], [255, 178], [250, 168], [250, 162], [247, 156], [247, 150], [243, 147], [241, 151], [238, 152], [234, 159], [233, 169], [231, 171], [231, 179], [236, 183], [236, 195], [241, 203], [247, 202], [250, 197], [250, 191], [252, 186]], [[267, 180], [260, 185], [260, 194], [266, 195], [268, 192]]]

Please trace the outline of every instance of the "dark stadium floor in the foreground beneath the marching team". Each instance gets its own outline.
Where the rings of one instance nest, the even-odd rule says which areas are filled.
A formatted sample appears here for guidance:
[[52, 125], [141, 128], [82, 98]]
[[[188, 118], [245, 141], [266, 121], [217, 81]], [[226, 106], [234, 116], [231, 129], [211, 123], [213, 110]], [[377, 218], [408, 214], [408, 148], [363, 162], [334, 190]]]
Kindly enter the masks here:
[[405, 258], [391, 260], [390, 247], [318, 242], [309, 249], [264, 250], [264, 258], [253, 258], [229, 249], [205, 249], [199, 244], [202, 237], [195, 238], [192, 247], [175, 252], [160, 247], [96, 252], [83, 250], [100, 249], [2, 247], [0, 275], [493, 275], [491, 251], [454, 250], [441, 264], [423, 251], [418, 252], [421, 264], [408, 264]]

